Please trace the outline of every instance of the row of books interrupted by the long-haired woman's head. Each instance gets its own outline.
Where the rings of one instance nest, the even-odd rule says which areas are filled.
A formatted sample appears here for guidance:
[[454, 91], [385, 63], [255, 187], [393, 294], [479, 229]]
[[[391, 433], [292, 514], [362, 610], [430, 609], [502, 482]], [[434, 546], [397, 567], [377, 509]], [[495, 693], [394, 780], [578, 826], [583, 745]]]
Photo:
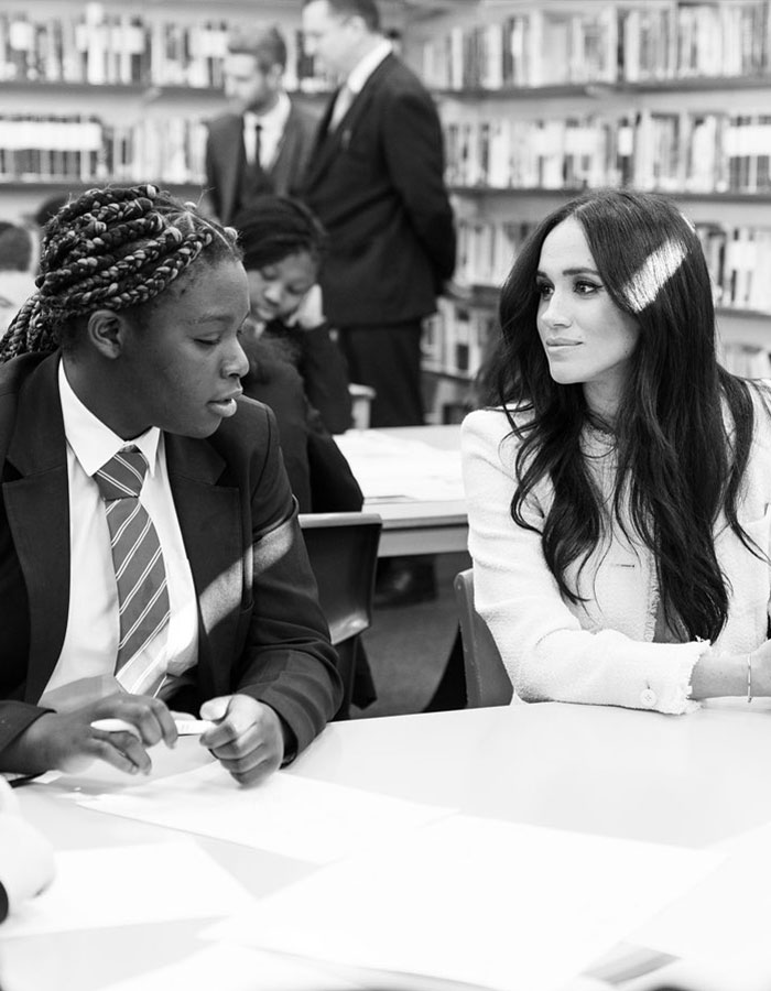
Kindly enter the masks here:
[[[459, 220], [456, 279], [500, 286], [534, 225]], [[696, 224], [719, 306], [771, 314], [771, 228]]]

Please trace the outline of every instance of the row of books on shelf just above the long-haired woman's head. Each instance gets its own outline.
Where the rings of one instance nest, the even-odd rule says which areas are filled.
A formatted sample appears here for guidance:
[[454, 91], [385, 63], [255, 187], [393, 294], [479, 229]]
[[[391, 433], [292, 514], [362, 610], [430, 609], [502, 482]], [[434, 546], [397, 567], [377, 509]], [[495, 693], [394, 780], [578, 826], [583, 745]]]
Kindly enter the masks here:
[[641, 110], [561, 120], [447, 120], [446, 179], [484, 188], [633, 185], [771, 190], [771, 113]]

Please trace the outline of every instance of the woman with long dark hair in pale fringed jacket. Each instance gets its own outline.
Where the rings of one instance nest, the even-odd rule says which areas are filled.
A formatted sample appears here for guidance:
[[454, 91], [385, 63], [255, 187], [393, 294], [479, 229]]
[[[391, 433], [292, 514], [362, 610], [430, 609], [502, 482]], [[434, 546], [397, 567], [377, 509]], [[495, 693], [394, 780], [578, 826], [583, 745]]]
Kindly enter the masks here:
[[664, 197], [587, 193], [514, 262], [463, 426], [476, 608], [515, 693], [661, 712], [771, 695], [771, 421], [716, 361]]

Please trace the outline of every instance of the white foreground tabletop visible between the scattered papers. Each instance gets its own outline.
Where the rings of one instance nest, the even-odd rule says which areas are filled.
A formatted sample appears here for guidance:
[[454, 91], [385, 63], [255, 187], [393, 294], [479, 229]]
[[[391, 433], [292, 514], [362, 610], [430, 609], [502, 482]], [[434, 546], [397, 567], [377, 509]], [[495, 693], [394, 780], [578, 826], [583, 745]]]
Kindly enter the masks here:
[[[687, 717], [523, 705], [333, 723], [281, 773], [514, 823], [703, 848], [771, 821], [770, 741], [771, 711], [762, 701]], [[193, 766], [198, 754], [185, 741], [159, 773]], [[18, 795], [28, 818], [61, 850], [170, 836], [80, 808], [55, 785], [26, 785]], [[198, 841], [258, 895], [310, 870], [270, 853]], [[96, 938], [0, 939], [2, 974], [10, 991], [93, 991], [108, 970], [113, 980], [126, 978], [192, 952], [202, 928], [175, 923], [105, 929]]]

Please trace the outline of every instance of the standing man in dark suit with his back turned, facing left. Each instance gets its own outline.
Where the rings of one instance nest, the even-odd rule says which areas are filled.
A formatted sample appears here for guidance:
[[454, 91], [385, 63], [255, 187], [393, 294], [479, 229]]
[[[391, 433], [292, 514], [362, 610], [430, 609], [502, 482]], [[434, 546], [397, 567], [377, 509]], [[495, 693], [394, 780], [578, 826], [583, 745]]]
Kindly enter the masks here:
[[[305, 0], [303, 34], [307, 53], [343, 80], [303, 192], [329, 232], [327, 316], [351, 381], [376, 391], [370, 425], [422, 424], [422, 322], [455, 268], [438, 115], [383, 36], [373, 0]], [[435, 595], [431, 559], [392, 559], [376, 602]]]

